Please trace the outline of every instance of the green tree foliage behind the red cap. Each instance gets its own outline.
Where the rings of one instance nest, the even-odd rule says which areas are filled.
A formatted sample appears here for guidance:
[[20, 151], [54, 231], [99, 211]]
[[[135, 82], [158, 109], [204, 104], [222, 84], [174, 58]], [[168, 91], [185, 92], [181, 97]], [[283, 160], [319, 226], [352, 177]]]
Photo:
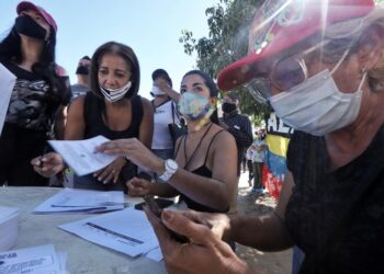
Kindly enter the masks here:
[[[188, 55], [197, 54], [196, 65], [213, 78], [221, 69], [240, 59], [248, 52], [248, 32], [256, 9], [262, 0], [218, 0], [219, 2], [205, 10], [208, 37], [195, 38], [193, 33], [181, 32], [180, 43]], [[252, 117], [269, 113], [266, 104], [258, 103], [245, 88], [237, 90], [240, 98], [240, 110]]]

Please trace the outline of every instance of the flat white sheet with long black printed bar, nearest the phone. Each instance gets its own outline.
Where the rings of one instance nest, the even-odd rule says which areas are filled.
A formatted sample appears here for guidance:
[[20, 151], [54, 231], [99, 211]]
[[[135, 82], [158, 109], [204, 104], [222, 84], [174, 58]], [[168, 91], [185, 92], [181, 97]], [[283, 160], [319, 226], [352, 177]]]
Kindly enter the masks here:
[[159, 246], [144, 212], [132, 207], [59, 228], [131, 256], [146, 254]]

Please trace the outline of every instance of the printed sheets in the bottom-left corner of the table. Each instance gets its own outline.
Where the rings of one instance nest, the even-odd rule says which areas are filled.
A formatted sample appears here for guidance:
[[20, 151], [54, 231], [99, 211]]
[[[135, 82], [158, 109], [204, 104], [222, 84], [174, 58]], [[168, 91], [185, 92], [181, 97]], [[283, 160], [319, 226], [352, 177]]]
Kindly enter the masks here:
[[54, 246], [41, 246], [0, 253], [0, 273], [2, 274], [46, 274], [68, 273], [67, 254], [56, 252]]

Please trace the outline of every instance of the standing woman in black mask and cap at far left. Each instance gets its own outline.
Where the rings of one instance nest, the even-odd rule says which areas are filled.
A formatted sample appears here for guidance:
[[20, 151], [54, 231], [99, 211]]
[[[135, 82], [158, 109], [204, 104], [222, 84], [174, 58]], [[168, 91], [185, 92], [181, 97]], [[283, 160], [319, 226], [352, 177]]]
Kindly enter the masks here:
[[[0, 185], [46, 186], [31, 159], [46, 141], [64, 136], [68, 77], [55, 62], [55, 20], [32, 2], [20, 2], [10, 33], [0, 42], [0, 64], [16, 77], [0, 137]], [[54, 129], [54, 130], [53, 130]]]

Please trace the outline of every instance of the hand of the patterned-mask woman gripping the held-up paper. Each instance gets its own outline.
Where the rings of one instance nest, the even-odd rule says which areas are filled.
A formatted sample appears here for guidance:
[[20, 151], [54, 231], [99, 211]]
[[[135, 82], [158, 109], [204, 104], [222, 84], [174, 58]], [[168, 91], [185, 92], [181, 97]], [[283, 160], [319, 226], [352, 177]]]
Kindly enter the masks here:
[[111, 140], [97, 147], [98, 152], [126, 157], [146, 171], [163, 172], [163, 160], [136, 138]]

